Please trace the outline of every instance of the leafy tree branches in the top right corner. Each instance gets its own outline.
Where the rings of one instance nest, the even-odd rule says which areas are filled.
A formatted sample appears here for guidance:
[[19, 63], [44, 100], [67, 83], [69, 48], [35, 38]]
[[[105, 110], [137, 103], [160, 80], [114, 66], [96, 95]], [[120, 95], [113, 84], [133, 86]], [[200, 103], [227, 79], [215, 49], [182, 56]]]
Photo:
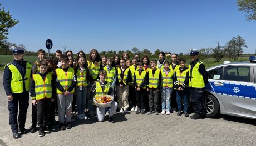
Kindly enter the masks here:
[[238, 0], [238, 10], [248, 13], [247, 20], [256, 20], [256, 1], [255, 0]]

